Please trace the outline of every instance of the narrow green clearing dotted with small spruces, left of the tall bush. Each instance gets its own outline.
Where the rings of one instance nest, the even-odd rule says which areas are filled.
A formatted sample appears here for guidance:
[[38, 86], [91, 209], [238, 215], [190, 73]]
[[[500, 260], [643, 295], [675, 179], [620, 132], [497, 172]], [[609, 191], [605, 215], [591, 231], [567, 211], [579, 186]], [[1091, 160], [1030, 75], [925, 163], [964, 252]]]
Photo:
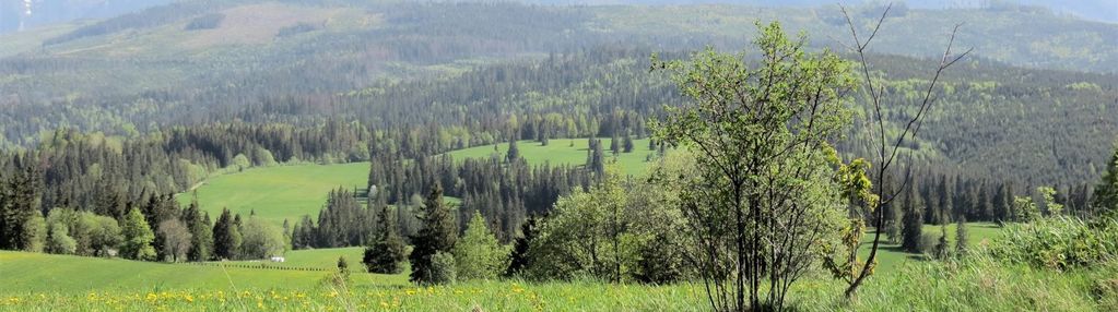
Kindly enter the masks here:
[[[609, 143], [612, 140], [610, 138], [601, 139], [607, 159], [616, 159], [622, 170], [626, 174], [643, 174], [647, 167], [645, 159], [647, 159], [648, 155], [655, 154], [655, 152], [648, 150], [648, 139], [634, 139], [633, 153], [619, 153], [616, 156], [609, 152]], [[550, 163], [552, 165], [581, 166], [586, 164], [589, 142], [585, 138], [557, 138], [551, 139], [547, 146], [543, 146], [539, 142], [521, 140], [517, 143], [517, 147], [520, 148], [520, 155], [530, 164]], [[449, 155], [454, 158], [485, 158], [493, 155], [504, 157], [508, 152], [509, 144], [502, 143], [459, 149], [451, 152]]]

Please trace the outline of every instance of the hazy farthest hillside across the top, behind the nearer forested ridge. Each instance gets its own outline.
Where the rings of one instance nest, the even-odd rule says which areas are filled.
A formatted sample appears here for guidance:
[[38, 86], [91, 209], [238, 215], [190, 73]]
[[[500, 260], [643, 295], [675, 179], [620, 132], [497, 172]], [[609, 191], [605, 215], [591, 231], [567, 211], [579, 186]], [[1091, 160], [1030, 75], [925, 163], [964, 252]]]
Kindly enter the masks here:
[[[835, 38], [845, 38], [837, 14], [831, 7], [187, 1], [0, 37], [4, 116], [38, 113], [3, 117], [3, 135], [6, 145], [27, 145], [60, 126], [132, 134], [229, 120], [272, 98], [314, 97], [321, 106], [377, 81], [453, 77], [477, 65], [603, 46], [738, 48], [757, 20], [781, 20], [813, 33], [817, 47], [836, 47]], [[984, 60], [1118, 70], [1110, 49], [1118, 39], [1109, 36], [1118, 26], [1029, 10], [898, 12], [874, 51], [934, 57], [941, 42], [925, 38], [957, 22], [967, 26], [960, 42]], [[176, 114], [157, 114], [165, 111]]]

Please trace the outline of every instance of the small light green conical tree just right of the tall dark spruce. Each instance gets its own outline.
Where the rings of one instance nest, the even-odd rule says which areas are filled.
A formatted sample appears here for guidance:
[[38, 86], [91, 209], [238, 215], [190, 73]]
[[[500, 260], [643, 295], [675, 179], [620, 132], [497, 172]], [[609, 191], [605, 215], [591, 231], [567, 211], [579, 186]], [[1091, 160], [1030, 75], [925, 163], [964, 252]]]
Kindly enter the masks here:
[[453, 255], [459, 281], [496, 279], [509, 266], [509, 250], [496, 241], [479, 212], [470, 218]]

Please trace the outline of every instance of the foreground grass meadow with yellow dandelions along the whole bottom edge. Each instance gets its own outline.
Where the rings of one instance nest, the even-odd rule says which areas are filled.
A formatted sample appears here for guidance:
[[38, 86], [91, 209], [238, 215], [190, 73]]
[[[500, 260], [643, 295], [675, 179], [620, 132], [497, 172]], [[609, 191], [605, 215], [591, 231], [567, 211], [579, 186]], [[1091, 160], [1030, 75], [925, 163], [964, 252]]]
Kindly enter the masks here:
[[[326, 253], [348, 251], [311, 252], [326, 257]], [[1112, 300], [1092, 298], [1096, 281], [1112, 280], [1118, 273], [1115, 267], [1055, 272], [986, 257], [959, 263], [910, 262], [899, 267], [897, 274], [868, 280], [854, 300], [842, 296], [844, 284], [839, 281], [817, 275], [805, 277], [793, 287], [788, 304], [795, 311], [1112, 311], [1118, 308]], [[176, 274], [160, 276], [165, 280], [162, 284], [138, 283], [132, 277], [152, 275], [153, 270]], [[417, 286], [353, 273], [350, 282], [332, 284], [318, 275], [322, 272], [229, 269], [227, 277], [210, 270], [220, 269], [0, 252], [0, 274], [4, 276], [4, 283], [0, 283], [0, 311], [709, 310], [700, 283], [472, 281]], [[72, 285], [72, 281], [83, 282]]]

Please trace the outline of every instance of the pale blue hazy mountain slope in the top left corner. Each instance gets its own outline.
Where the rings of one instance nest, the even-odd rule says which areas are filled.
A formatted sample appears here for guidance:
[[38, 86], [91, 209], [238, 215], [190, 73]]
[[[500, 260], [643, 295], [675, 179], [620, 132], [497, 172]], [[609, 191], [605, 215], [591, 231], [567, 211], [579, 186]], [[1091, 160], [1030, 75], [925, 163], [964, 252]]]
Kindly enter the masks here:
[[0, 33], [79, 19], [104, 19], [174, 0], [0, 0]]

